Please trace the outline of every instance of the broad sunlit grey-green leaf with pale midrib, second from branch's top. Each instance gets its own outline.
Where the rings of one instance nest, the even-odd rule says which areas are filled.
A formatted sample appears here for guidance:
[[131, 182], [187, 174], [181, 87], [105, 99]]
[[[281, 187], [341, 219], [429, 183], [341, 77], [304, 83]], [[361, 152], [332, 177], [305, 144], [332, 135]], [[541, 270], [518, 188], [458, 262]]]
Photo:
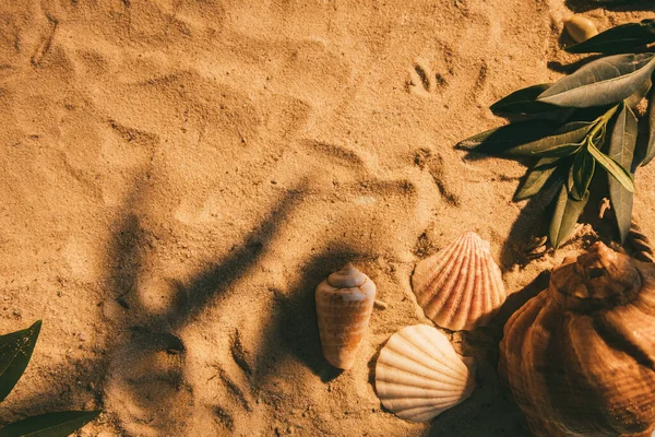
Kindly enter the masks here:
[[538, 102], [574, 108], [621, 102], [651, 76], [654, 56], [616, 55], [597, 59], [559, 80], [539, 95]]

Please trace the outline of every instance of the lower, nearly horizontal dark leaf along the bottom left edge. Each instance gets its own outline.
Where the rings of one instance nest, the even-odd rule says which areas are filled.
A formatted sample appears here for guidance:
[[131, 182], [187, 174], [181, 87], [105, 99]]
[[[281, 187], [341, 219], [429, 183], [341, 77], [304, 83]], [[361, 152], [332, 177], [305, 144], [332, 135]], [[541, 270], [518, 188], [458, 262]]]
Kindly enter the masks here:
[[0, 429], [0, 437], [67, 437], [98, 414], [99, 411], [64, 411], [28, 417]]

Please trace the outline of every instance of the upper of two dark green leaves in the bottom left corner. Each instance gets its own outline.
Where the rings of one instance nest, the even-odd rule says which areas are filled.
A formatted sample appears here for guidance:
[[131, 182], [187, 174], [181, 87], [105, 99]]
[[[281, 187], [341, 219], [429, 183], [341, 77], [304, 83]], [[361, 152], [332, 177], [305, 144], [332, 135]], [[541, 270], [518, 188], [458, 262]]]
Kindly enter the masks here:
[[0, 402], [14, 388], [29, 363], [41, 321], [22, 331], [0, 335]]

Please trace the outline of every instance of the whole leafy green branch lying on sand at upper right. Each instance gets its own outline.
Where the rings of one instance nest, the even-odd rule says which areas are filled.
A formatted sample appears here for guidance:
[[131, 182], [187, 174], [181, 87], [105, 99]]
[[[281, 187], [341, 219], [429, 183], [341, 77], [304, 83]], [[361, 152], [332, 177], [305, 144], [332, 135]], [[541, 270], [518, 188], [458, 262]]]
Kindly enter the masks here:
[[[538, 84], [511, 93], [491, 105], [498, 116], [519, 121], [478, 133], [456, 146], [508, 158], [533, 158], [514, 193], [514, 201], [556, 185], [548, 239], [558, 248], [572, 232], [590, 199], [592, 179], [600, 167], [609, 177], [609, 194], [621, 243], [630, 231], [634, 173], [655, 156], [655, 107], [652, 76], [655, 20], [612, 27], [567, 51], [600, 52], [555, 84]], [[630, 51], [641, 51], [639, 54]], [[635, 108], [650, 96], [639, 138]]]

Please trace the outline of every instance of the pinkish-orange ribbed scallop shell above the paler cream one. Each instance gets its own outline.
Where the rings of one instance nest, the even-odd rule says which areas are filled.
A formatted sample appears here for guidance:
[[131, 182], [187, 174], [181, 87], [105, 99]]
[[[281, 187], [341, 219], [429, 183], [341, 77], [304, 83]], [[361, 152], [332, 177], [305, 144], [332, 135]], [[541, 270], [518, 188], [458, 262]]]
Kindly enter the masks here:
[[489, 243], [473, 232], [420, 261], [412, 287], [426, 317], [453, 331], [486, 326], [507, 297]]

